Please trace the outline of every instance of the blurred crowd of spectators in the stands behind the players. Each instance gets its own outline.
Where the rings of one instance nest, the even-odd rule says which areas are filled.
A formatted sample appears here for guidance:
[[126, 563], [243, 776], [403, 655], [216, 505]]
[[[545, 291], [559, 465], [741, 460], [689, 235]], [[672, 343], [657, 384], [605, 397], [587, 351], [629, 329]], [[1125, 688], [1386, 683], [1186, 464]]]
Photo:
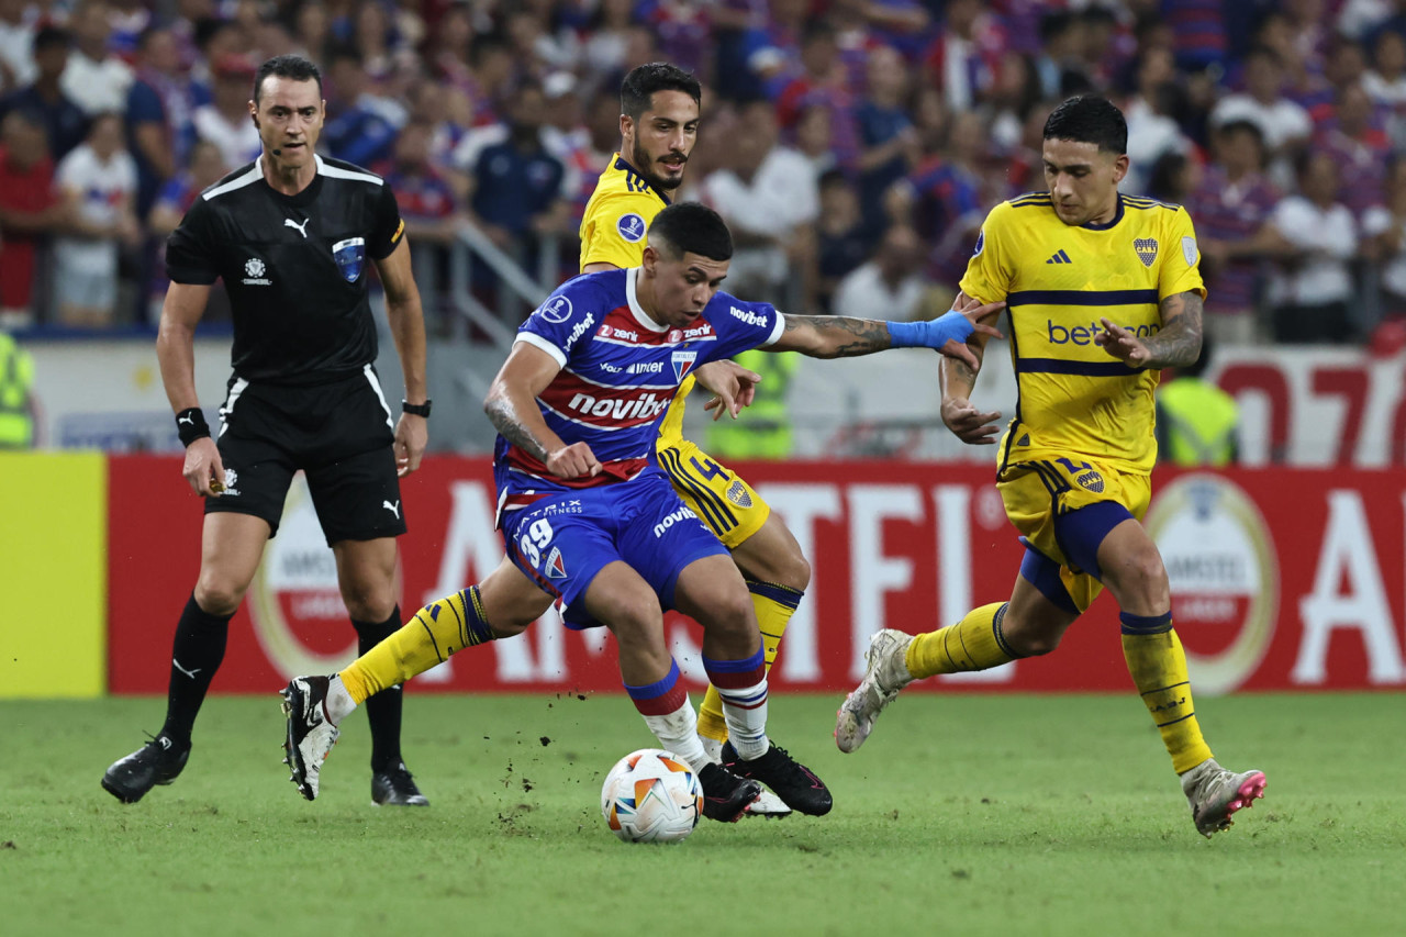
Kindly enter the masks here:
[[666, 59], [707, 89], [681, 196], [730, 222], [742, 295], [946, 308], [987, 210], [1043, 189], [1050, 108], [1097, 91], [1122, 190], [1191, 210], [1215, 338], [1406, 319], [1403, 0], [0, 0], [0, 328], [150, 328], [165, 235], [257, 155], [284, 52], [323, 68], [326, 152], [440, 245], [430, 281], [464, 222], [574, 273], [620, 77]]

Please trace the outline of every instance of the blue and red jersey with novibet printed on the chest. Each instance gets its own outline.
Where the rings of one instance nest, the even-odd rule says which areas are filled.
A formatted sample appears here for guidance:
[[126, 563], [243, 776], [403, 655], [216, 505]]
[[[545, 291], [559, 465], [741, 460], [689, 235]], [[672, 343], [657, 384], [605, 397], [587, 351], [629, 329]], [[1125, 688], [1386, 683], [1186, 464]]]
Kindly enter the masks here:
[[783, 321], [772, 305], [725, 293], [686, 326], [657, 322], [636, 295], [638, 274], [638, 269], [612, 270], [569, 280], [519, 328], [517, 342], [561, 366], [537, 395], [543, 419], [568, 445], [589, 445], [602, 470], [586, 478], [554, 478], [537, 459], [499, 438], [501, 509], [633, 478], [652, 464], [658, 422], [693, 369], [780, 338]]

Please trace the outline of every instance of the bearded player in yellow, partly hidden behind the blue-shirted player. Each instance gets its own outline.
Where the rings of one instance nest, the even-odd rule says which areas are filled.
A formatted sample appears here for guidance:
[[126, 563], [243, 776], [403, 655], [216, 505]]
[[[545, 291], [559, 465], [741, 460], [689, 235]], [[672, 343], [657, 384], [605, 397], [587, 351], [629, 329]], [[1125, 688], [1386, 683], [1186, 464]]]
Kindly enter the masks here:
[[[697, 136], [700, 97], [697, 79], [673, 65], [652, 62], [626, 75], [620, 86], [620, 152], [612, 155], [600, 174], [581, 224], [582, 273], [640, 266], [650, 222], [669, 204], [668, 193], [683, 181]], [[749, 388], [737, 378], [741, 370], [725, 362], [697, 369], [699, 383], [718, 394], [720, 412], [728, 409], [735, 415], [734, 398], [748, 398]], [[665, 414], [659, 466], [683, 502], [733, 552], [752, 595], [770, 668], [782, 632], [810, 584], [810, 564], [796, 537], [751, 485], [682, 438], [683, 398], [693, 384], [693, 376], [683, 381]], [[447, 605], [453, 618], [432, 620], [429, 609], [437, 605]], [[350, 710], [464, 647], [517, 635], [550, 606], [551, 597], [503, 559], [481, 582], [432, 602], [377, 650], [337, 674], [329, 691], [329, 712]], [[725, 744], [723, 703], [713, 687], [703, 699], [697, 723], [710, 758], [735, 760]], [[769, 791], [747, 809], [749, 816], [790, 812]]]

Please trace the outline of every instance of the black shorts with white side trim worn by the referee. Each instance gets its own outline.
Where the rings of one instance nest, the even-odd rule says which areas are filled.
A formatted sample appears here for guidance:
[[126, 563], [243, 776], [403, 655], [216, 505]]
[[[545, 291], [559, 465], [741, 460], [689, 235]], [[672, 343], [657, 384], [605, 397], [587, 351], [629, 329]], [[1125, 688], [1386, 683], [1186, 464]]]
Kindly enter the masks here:
[[395, 440], [375, 369], [309, 387], [229, 378], [219, 409], [225, 491], [205, 514], [252, 514], [278, 533], [284, 499], [302, 470], [328, 546], [405, 533]]

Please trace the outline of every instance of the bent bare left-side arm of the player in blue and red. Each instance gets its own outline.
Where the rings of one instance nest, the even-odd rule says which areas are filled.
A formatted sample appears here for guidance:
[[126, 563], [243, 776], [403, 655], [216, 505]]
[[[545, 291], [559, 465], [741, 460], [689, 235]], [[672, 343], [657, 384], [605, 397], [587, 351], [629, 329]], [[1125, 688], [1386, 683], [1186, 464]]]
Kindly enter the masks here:
[[558, 478], [579, 478], [600, 471], [591, 446], [569, 446], [551, 432], [537, 409], [537, 394], [561, 371], [551, 355], [524, 342], [513, 345], [502, 370], [488, 388], [484, 412], [503, 439], [547, 466]]

